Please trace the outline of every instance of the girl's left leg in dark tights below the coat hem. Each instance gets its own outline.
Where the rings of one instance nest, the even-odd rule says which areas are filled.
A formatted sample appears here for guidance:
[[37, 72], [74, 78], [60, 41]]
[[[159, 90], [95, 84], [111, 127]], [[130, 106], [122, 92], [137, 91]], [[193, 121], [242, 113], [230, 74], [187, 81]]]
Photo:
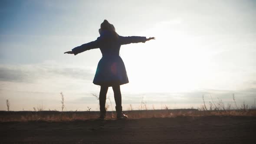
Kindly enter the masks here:
[[99, 92], [99, 106], [100, 106], [100, 112], [101, 115], [105, 115], [105, 104], [106, 104], [106, 97], [108, 92], [108, 86], [101, 86], [100, 92]]

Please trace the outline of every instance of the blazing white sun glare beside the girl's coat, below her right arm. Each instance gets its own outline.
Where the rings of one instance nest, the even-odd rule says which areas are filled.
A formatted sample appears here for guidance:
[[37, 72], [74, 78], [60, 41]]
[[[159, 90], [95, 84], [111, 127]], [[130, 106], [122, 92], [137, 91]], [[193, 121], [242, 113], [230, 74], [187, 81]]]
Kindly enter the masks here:
[[[160, 31], [161, 32], [161, 31]], [[151, 36], [151, 35], [148, 35]], [[155, 33], [145, 44], [122, 46], [129, 92], [187, 92], [202, 87], [209, 57], [197, 40], [184, 33]]]

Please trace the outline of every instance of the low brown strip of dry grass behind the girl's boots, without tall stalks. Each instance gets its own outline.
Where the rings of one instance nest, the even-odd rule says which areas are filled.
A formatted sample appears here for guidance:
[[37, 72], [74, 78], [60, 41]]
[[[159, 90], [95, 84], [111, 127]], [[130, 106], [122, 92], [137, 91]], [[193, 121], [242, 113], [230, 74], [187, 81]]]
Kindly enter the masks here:
[[[113, 119], [113, 111], [107, 112], [107, 119]], [[256, 116], [256, 110], [213, 110], [164, 109], [124, 111], [129, 118], [175, 118], [181, 116]], [[0, 111], [0, 121], [76, 121], [96, 119], [99, 111]]]

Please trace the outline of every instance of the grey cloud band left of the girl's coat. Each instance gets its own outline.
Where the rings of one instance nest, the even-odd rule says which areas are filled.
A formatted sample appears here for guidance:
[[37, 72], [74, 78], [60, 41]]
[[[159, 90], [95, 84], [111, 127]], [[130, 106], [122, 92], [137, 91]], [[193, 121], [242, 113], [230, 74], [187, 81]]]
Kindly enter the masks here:
[[59, 65], [0, 65], [1, 81], [32, 83], [38, 79], [51, 79], [58, 76], [92, 80], [94, 73], [90, 69], [67, 68]]

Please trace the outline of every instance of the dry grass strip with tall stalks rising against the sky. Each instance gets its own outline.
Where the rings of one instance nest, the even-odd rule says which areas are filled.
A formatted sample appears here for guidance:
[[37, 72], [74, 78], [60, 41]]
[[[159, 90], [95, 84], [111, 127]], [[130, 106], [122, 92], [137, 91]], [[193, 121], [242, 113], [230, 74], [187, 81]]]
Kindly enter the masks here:
[[[88, 107], [87, 111], [63, 111], [64, 105], [64, 95], [61, 92], [61, 111], [44, 111], [43, 104], [39, 106], [38, 111], [33, 108], [34, 111], [9, 111], [10, 101], [7, 100], [7, 110], [0, 111], [0, 121], [76, 121], [76, 120], [88, 120], [96, 119], [99, 117], [99, 111], [91, 111]], [[98, 99], [98, 95], [92, 94]], [[153, 110], [148, 110], [147, 102], [141, 98], [141, 103], [138, 110], [134, 110], [132, 105], [129, 105], [128, 111], [124, 111], [129, 118], [175, 118], [181, 116], [256, 116], [256, 106], [255, 99], [254, 105], [249, 108], [248, 105], [243, 102], [243, 104], [238, 107], [236, 104], [235, 96], [233, 94], [233, 105], [224, 105], [220, 98], [214, 101], [210, 95], [211, 101], [209, 101], [209, 106], [207, 107], [205, 103], [204, 96], [202, 96], [202, 105], [200, 108], [194, 109], [169, 109], [167, 105], [162, 106], [161, 110], [156, 110], [154, 105], [152, 105]], [[115, 111], [113, 111], [112, 103], [110, 98], [107, 98], [110, 105], [106, 103], [106, 118], [114, 119]], [[108, 111], [112, 108], [112, 111]]]

